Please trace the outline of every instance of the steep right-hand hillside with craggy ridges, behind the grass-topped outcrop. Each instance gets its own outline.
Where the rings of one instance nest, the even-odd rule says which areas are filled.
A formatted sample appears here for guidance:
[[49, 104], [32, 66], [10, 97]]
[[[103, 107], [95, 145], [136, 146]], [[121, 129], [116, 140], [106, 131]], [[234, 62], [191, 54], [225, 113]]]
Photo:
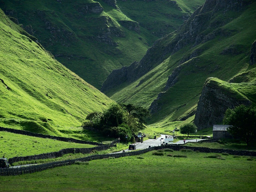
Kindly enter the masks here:
[[[252, 70], [247, 82], [255, 81], [255, 65], [249, 65], [249, 56], [256, 39], [256, 3], [236, 5], [206, 1], [179, 30], [156, 41], [140, 62], [128, 67], [126, 77], [113, 76], [126, 80], [106, 94], [118, 102], [151, 106], [150, 123], [162, 121], [163, 125], [195, 114], [208, 77], [228, 81]], [[237, 77], [241, 82], [242, 76]], [[254, 90], [244, 87], [243, 91], [253, 102]]]

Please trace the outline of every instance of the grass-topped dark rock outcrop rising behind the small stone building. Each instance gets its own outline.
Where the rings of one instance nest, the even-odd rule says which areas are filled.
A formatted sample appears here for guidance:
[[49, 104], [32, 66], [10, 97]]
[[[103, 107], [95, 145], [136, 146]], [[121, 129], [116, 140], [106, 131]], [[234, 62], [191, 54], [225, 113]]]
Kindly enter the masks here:
[[241, 93], [229, 87], [228, 82], [217, 78], [210, 77], [206, 80], [197, 104], [194, 120], [198, 130], [221, 123], [226, 110], [229, 108], [233, 109], [240, 104], [251, 104], [251, 101]]

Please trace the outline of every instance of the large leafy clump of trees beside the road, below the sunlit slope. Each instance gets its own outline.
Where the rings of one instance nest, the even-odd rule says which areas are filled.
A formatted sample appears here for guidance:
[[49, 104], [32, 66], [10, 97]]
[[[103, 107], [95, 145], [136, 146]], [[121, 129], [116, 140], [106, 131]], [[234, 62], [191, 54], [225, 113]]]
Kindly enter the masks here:
[[92, 127], [111, 137], [122, 140], [134, 139], [133, 134], [145, 129], [146, 119], [150, 113], [143, 107], [133, 104], [112, 104], [103, 112], [93, 112], [87, 115], [84, 128]]

